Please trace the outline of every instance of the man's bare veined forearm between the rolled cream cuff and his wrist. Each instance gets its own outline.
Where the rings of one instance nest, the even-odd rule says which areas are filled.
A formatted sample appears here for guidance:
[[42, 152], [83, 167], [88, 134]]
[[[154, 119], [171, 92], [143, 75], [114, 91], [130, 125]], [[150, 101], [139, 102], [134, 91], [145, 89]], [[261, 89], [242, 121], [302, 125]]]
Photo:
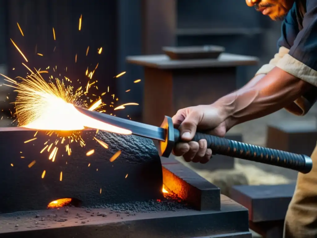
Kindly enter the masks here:
[[221, 108], [228, 129], [242, 122], [271, 114], [292, 103], [310, 87], [309, 83], [274, 68], [254, 77], [243, 88], [214, 103]]

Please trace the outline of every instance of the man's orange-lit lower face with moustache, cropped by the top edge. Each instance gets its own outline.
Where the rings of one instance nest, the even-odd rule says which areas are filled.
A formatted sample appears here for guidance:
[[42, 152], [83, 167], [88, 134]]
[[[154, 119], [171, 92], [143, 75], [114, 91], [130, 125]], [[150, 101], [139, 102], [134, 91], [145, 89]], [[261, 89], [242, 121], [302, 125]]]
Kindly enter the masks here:
[[295, 0], [246, 0], [249, 7], [255, 7], [272, 20], [283, 19], [292, 8]]

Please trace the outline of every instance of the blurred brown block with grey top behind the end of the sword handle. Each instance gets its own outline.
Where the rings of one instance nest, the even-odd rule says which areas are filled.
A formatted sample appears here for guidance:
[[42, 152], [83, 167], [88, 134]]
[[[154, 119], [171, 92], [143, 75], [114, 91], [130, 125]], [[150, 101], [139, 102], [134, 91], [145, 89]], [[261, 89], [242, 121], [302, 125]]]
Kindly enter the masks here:
[[315, 124], [284, 122], [268, 125], [266, 147], [311, 155], [317, 138]]

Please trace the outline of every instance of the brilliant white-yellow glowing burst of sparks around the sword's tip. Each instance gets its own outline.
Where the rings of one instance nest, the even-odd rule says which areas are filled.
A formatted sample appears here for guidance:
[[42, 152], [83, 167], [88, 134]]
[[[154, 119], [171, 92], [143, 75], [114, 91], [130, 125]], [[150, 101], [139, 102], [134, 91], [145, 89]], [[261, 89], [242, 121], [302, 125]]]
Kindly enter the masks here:
[[22, 78], [21, 83], [15, 83], [14, 80], [7, 81], [14, 83], [18, 92], [16, 115], [19, 126], [50, 131], [75, 131], [87, 127], [125, 135], [132, 134], [130, 130], [98, 121], [80, 113], [72, 104], [75, 103], [79, 92], [76, 91], [72, 94], [72, 88], [66, 88], [58, 79], [56, 79], [56, 85], [46, 83], [42, 76], [36, 73], [31, 74], [26, 79]]

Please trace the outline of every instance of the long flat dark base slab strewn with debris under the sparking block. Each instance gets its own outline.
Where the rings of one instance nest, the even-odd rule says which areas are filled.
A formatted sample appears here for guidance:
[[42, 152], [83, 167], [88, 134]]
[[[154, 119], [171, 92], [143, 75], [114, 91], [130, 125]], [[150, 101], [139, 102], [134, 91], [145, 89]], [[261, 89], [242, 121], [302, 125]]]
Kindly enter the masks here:
[[109, 209], [87, 212], [84, 208], [61, 208], [11, 213], [0, 215], [0, 237], [251, 238], [248, 210], [224, 195], [221, 205], [221, 211], [181, 209], [127, 214], [111, 213]]

